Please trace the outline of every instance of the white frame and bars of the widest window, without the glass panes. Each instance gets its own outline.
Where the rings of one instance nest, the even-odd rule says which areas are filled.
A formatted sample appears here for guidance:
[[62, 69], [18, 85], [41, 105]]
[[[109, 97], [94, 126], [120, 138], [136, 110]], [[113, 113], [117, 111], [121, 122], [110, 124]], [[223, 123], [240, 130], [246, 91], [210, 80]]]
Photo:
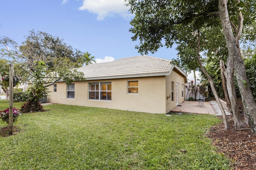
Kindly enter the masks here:
[[[95, 86], [95, 90], [91, 90], [91, 85], [95, 84], [98, 85], [98, 89], [96, 89]], [[102, 85], [106, 84], [106, 90], [102, 90]], [[111, 85], [111, 89], [109, 90], [109, 86]], [[95, 98], [91, 98], [91, 93], [90, 92], [95, 92]], [[98, 98], [96, 98], [96, 94], [98, 92]], [[106, 93], [106, 99], [102, 99], [102, 94]], [[101, 100], [101, 101], [112, 101], [112, 82], [96, 82], [96, 83], [89, 83], [89, 88], [88, 88], [88, 100]], [[108, 96], [110, 94], [110, 96]]]

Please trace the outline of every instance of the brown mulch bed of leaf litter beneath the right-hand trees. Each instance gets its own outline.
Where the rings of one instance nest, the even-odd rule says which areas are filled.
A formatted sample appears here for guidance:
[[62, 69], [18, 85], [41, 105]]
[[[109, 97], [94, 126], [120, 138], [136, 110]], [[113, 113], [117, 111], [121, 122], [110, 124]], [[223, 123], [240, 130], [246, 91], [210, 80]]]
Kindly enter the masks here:
[[233, 161], [235, 170], [256, 170], [256, 134], [250, 132], [250, 127], [234, 129], [232, 116], [227, 118], [229, 130], [223, 130], [224, 123], [221, 123], [211, 127], [207, 137], [212, 139], [212, 145], [218, 148], [218, 152]]

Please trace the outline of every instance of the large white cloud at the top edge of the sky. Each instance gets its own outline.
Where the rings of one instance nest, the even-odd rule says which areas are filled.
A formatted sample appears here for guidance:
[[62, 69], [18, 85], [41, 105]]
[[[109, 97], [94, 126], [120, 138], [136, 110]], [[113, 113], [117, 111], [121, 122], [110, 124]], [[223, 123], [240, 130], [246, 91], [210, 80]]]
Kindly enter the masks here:
[[97, 20], [104, 20], [105, 17], [114, 17], [116, 15], [120, 15], [125, 19], [132, 16], [128, 11], [129, 7], [125, 6], [124, 0], [84, 0], [79, 10], [88, 10], [88, 12], [97, 14]]

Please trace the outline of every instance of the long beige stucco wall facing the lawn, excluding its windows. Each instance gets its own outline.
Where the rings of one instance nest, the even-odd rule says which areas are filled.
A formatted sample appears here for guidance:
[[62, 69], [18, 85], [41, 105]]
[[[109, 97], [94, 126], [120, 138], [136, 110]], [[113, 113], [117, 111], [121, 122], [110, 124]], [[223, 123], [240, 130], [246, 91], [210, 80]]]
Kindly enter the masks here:
[[[128, 94], [127, 82], [136, 80], [138, 80], [139, 84], [138, 94]], [[112, 100], [89, 100], [88, 84], [92, 82], [111, 82]], [[47, 96], [47, 102], [78, 106], [104, 107], [148, 113], [168, 112], [166, 112], [166, 110], [168, 110], [166, 109], [166, 76], [74, 82], [74, 99], [67, 99], [66, 84], [63, 82], [56, 82], [56, 84], [57, 92], [50, 92]], [[50, 86], [49, 90], [53, 91], [53, 86]]]

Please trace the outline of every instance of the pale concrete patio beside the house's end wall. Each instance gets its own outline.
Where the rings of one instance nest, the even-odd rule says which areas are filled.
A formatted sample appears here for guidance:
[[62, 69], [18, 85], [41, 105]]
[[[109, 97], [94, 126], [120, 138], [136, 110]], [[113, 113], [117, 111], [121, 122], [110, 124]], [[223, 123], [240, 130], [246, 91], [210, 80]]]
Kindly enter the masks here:
[[214, 107], [209, 102], [204, 102], [204, 107], [199, 107], [198, 102], [194, 101], [184, 101], [178, 106], [174, 107], [171, 112], [198, 113], [210, 115], [216, 114]]

